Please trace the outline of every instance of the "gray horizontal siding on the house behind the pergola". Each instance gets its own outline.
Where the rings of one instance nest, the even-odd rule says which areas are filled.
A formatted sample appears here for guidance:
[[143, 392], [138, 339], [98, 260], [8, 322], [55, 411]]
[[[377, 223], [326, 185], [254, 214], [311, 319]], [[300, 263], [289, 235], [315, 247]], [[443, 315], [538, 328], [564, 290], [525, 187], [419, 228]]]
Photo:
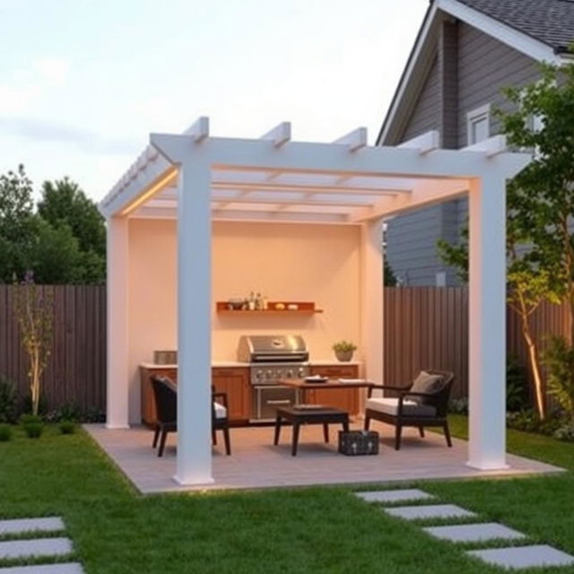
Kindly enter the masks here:
[[[438, 129], [447, 132], [442, 138], [447, 143], [445, 147], [450, 147], [448, 141], [456, 143], [456, 139], [458, 147], [465, 147], [467, 112], [489, 103], [491, 111], [495, 107], [505, 109], [508, 104], [501, 93], [502, 88], [524, 85], [537, 77], [538, 65], [533, 59], [464, 22], [448, 26], [446, 31], [444, 27], [441, 30], [442, 36], [437, 44], [439, 55], [404, 128], [402, 141], [430, 129]], [[452, 39], [453, 27], [457, 29], [457, 41]], [[445, 46], [451, 47], [449, 53], [440, 52]], [[439, 65], [440, 58], [448, 62], [455, 53], [458, 62], [457, 106], [451, 95], [448, 101], [443, 101], [445, 96], [452, 94], [452, 65], [448, 68]], [[448, 122], [447, 104], [450, 109], [457, 109], [457, 121]], [[490, 119], [491, 135], [494, 135], [499, 126], [492, 113]], [[457, 126], [457, 138], [453, 137], [453, 126]], [[438, 274], [445, 273], [448, 285], [457, 284], [456, 272], [442, 264], [436, 246], [439, 239], [457, 241], [460, 228], [467, 219], [467, 210], [467, 200], [460, 199], [407, 213], [388, 222], [387, 258], [403, 283], [435, 285]]]

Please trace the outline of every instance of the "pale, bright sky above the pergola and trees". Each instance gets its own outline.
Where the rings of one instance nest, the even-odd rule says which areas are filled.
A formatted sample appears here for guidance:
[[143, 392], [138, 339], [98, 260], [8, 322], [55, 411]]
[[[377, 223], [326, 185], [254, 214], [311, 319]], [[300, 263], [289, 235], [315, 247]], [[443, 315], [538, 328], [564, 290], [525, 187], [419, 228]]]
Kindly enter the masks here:
[[429, 0], [0, 0], [0, 174], [98, 201], [149, 142], [212, 135], [374, 143]]

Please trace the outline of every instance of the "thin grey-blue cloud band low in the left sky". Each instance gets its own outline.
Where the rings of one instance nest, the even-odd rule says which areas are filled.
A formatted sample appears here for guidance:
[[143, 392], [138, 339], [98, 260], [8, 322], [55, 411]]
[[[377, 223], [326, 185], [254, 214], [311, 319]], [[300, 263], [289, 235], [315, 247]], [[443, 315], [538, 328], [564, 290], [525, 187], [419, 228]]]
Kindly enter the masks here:
[[4, 136], [15, 135], [36, 142], [65, 143], [83, 152], [97, 154], [133, 154], [141, 147], [132, 139], [107, 138], [81, 127], [33, 117], [0, 117], [0, 132]]

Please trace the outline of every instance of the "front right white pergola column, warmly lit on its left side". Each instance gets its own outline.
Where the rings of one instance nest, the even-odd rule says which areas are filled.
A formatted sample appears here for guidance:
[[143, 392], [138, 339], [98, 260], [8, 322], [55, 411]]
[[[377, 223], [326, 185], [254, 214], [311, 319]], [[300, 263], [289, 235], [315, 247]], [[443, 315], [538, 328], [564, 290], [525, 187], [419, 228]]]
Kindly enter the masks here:
[[506, 185], [475, 179], [469, 193], [468, 465], [506, 467]]

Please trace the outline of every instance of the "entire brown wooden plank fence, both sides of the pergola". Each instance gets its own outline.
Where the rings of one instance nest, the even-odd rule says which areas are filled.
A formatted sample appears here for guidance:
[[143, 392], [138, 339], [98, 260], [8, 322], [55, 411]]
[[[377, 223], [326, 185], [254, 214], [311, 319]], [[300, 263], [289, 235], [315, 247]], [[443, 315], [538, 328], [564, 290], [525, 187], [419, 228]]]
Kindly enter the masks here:
[[[103, 410], [106, 404], [106, 288], [104, 285], [54, 287], [54, 344], [43, 389], [52, 407], [73, 403]], [[543, 335], [566, 334], [567, 314], [543, 305], [532, 317]], [[508, 350], [526, 364], [526, 348], [516, 314], [509, 309]], [[387, 287], [385, 289], [385, 378], [404, 382], [424, 368], [452, 370], [453, 395], [468, 387], [468, 291], [465, 287]], [[27, 357], [13, 316], [13, 287], [0, 285], [0, 375], [28, 394]]]

